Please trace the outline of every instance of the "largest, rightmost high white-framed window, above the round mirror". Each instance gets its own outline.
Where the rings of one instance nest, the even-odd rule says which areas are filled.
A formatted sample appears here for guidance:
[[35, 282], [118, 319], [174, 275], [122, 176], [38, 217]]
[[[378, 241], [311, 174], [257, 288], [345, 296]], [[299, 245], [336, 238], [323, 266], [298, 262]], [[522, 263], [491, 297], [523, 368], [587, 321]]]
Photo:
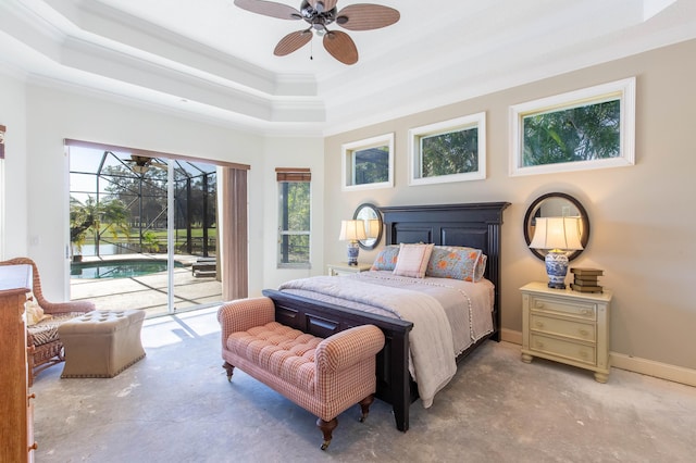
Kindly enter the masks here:
[[510, 175], [632, 165], [635, 78], [517, 104]]

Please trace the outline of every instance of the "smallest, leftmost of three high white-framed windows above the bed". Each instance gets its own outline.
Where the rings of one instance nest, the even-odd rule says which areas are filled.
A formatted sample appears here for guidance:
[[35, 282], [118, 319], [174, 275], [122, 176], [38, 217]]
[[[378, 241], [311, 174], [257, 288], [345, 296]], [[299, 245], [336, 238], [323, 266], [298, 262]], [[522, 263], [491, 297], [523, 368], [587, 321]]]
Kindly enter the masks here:
[[341, 151], [344, 190], [394, 186], [394, 134], [346, 143]]

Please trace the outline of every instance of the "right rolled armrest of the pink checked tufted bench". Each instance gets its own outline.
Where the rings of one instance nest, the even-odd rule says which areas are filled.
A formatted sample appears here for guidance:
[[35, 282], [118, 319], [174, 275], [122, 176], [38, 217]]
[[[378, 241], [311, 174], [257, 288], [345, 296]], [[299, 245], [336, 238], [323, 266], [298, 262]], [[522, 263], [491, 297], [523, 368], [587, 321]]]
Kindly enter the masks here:
[[374, 325], [361, 325], [330, 336], [316, 346], [318, 371], [333, 373], [376, 355], [384, 347], [384, 333]]

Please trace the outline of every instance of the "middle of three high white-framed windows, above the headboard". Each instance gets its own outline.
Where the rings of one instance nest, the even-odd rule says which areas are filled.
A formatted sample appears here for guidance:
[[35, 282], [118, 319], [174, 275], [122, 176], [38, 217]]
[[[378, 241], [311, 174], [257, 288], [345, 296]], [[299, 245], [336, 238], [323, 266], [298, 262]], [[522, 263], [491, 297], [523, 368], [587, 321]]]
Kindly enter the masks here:
[[409, 185], [486, 178], [486, 113], [409, 130]]

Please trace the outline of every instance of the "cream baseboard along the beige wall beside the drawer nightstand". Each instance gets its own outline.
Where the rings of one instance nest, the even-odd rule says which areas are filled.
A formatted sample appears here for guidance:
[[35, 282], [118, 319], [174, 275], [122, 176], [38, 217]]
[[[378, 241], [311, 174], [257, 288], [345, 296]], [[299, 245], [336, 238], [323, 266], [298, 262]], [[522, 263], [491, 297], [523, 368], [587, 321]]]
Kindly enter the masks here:
[[[500, 329], [500, 339], [522, 346], [522, 331], [502, 328]], [[609, 352], [609, 361], [614, 368], [626, 370], [629, 372], [696, 387], [696, 370], [617, 352]]]

